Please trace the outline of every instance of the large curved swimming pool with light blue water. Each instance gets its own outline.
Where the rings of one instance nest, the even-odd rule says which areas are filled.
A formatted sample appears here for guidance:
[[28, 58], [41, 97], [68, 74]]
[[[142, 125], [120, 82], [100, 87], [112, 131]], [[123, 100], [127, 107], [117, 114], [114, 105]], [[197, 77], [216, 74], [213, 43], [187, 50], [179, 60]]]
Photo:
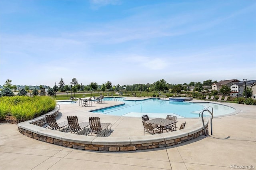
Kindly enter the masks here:
[[[147, 114], [149, 117], [165, 118], [166, 115], [175, 115], [178, 118], [194, 118], [199, 117], [199, 113], [209, 106], [213, 108], [214, 117], [230, 114], [235, 111], [232, 107], [214, 103], [175, 102], [157, 98], [136, 101], [115, 97], [104, 97], [104, 99], [105, 101], [123, 101], [125, 104], [92, 112], [126, 117], [141, 117]], [[211, 109], [209, 110], [211, 111]], [[210, 116], [210, 113], [204, 112], [204, 115]]]

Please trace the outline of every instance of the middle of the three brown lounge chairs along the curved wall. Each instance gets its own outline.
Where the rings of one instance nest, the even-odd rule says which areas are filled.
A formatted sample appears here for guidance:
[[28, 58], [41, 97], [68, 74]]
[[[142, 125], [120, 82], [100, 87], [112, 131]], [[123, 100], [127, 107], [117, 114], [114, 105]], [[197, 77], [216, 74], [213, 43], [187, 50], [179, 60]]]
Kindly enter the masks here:
[[[86, 127], [88, 128], [88, 126], [90, 125], [89, 122], [78, 123], [77, 116], [68, 116], [67, 119], [68, 119], [68, 129], [71, 130], [71, 133], [72, 132], [74, 132], [74, 133], [77, 132], [77, 134], [79, 134], [79, 132], [82, 129], [84, 129], [84, 132], [85, 132], [85, 128]], [[67, 130], [66, 130], [66, 132], [67, 132]], [[89, 128], [88, 128], [88, 130], [89, 130]], [[84, 132], [83, 132], [83, 134], [84, 134]]]

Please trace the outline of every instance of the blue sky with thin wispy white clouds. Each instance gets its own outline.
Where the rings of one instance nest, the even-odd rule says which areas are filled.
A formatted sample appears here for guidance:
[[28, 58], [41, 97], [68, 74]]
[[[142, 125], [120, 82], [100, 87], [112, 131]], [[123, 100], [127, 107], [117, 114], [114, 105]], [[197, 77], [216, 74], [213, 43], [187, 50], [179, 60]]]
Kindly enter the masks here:
[[255, 0], [0, 0], [0, 85], [256, 79]]

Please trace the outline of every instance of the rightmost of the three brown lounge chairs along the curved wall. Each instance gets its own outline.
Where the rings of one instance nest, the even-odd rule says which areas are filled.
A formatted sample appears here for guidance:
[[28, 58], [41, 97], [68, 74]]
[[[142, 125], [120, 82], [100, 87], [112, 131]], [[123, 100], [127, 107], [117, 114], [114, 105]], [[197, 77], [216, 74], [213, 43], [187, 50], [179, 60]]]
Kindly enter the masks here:
[[[88, 135], [92, 133], [96, 134], [98, 136], [98, 134], [100, 134], [101, 136], [101, 132], [104, 131], [104, 136], [106, 135], [106, 130], [108, 130], [108, 127], [110, 126], [110, 130], [111, 130], [111, 123], [100, 123], [100, 118], [99, 117], [89, 117], [89, 123], [90, 123], [90, 130], [88, 132]], [[108, 132], [110, 132], [110, 130], [108, 130]]]

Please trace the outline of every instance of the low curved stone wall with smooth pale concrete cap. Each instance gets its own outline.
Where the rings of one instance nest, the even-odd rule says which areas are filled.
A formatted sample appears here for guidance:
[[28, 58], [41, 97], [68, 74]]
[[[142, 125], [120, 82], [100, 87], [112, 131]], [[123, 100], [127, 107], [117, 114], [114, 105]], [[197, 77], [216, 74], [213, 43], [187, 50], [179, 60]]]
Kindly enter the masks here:
[[[57, 116], [58, 108], [54, 109], [54, 111], [51, 111], [50, 113], [47, 113], [47, 114], [54, 114], [55, 116]], [[206, 122], [206, 132], [208, 134], [208, 121], [205, 121], [205, 122]], [[28, 125], [28, 123], [30, 125]], [[24, 123], [19, 123], [18, 130], [20, 131], [20, 133], [26, 136], [29, 136], [31, 138], [41, 140], [44, 142], [57, 144], [60, 146], [66, 146], [70, 148], [83, 149], [83, 150], [98, 150], [98, 151], [131, 151], [131, 150], [144, 150], [144, 149], [172, 146], [175, 144], [185, 142], [187, 140], [197, 138], [198, 136], [202, 135], [204, 131], [203, 128], [199, 126], [200, 123], [198, 123], [198, 125], [195, 128], [190, 129], [188, 127], [182, 130], [171, 132], [171, 133], [164, 133], [163, 136], [159, 134], [138, 136], [138, 138], [141, 140], [138, 140], [136, 136], [128, 137], [130, 140], [129, 141], [127, 139], [123, 140], [123, 138], [126, 138], [126, 137], [123, 137], [123, 138], [122, 137], [120, 138], [93, 137], [92, 138], [92, 136], [83, 136], [83, 135], [77, 135], [77, 134], [68, 134], [67, 135], [68, 137], [65, 138], [63, 134], [61, 134], [64, 132], [58, 132], [55, 130], [46, 131], [45, 128], [42, 129], [42, 127], [40, 126], [43, 126], [45, 123], [46, 123], [46, 119], [45, 119], [45, 115], [43, 115], [39, 118], [32, 119]], [[35, 127], [35, 125], [37, 126]], [[201, 121], [201, 125], [202, 125], [202, 121]], [[40, 131], [46, 131], [46, 132], [40, 132]], [[54, 133], [57, 132], [62, 136], [61, 135], [58, 136], [58, 134], [54, 136], [51, 134], [52, 131]], [[69, 135], [72, 135], [72, 136], [69, 136]], [[156, 135], [159, 135], [159, 136], [156, 136]], [[85, 139], [84, 137], [87, 137], [90, 140], [84, 140]], [[103, 140], [98, 140], [94, 142], [93, 140], [96, 138], [100, 138]], [[134, 138], [134, 140], [132, 140], [132, 138]], [[106, 139], [106, 141], [104, 141], [104, 139]]]

